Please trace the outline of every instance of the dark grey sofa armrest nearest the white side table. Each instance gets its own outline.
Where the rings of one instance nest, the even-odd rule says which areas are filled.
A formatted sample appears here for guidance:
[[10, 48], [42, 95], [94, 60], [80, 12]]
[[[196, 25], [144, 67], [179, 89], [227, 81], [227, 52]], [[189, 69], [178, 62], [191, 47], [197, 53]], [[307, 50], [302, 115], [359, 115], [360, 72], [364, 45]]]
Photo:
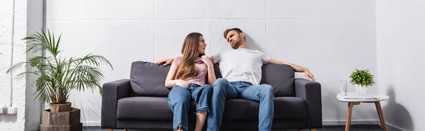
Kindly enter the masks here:
[[322, 127], [322, 91], [319, 82], [295, 79], [295, 96], [305, 100], [307, 120], [305, 125], [309, 128]]

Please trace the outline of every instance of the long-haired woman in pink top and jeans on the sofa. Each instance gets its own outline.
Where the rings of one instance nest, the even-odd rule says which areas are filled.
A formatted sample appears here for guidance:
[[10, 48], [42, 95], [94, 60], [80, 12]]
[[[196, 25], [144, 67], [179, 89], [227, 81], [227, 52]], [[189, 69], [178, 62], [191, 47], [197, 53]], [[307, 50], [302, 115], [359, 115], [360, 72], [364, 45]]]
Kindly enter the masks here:
[[[191, 100], [196, 101], [196, 131], [203, 128], [210, 108], [211, 85], [215, 82], [214, 65], [205, 54], [203, 35], [192, 32], [184, 39], [181, 54], [174, 58], [166, 76], [165, 87], [171, 88], [168, 101], [174, 113], [173, 130], [188, 130]], [[208, 76], [208, 84], [205, 77]]]

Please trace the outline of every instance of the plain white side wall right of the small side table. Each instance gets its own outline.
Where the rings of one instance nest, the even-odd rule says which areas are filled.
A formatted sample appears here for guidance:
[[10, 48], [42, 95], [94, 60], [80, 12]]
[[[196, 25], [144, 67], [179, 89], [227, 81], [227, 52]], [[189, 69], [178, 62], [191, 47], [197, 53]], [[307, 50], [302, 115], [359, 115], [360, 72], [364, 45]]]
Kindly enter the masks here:
[[425, 1], [376, 1], [379, 93], [385, 120], [403, 130], [425, 130]]

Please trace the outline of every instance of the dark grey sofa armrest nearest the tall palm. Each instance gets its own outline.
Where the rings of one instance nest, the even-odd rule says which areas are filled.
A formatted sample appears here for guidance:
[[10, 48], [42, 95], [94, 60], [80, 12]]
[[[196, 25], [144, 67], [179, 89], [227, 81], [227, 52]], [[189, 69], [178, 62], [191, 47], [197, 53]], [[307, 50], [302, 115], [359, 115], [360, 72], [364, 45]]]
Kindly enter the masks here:
[[101, 127], [117, 129], [118, 100], [130, 94], [130, 80], [116, 80], [103, 84]]

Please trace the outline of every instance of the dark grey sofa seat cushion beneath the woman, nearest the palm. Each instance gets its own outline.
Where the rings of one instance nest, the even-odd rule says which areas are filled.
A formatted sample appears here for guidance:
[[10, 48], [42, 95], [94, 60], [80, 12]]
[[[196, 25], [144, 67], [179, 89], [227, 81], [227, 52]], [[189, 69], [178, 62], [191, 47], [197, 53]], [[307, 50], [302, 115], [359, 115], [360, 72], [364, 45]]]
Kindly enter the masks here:
[[[195, 118], [196, 103], [191, 102], [191, 120]], [[118, 100], [118, 120], [173, 120], [167, 97], [133, 96]]]

